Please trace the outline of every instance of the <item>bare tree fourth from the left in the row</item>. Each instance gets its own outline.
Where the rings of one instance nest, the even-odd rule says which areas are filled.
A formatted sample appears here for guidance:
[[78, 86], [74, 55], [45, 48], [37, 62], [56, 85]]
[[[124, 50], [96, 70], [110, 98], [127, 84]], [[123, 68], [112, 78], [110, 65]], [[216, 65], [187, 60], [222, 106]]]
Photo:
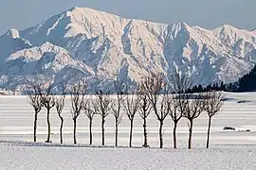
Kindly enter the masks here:
[[74, 144], [77, 144], [76, 130], [77, 119], [81, 114], [82, 106], [84, 105], [84, 96], [86, 92], [86, 85], [84, 82], [79, 82], [74, 85], [71, 90], [71, 105], [72, 105], [72, 119], [74, 122]]

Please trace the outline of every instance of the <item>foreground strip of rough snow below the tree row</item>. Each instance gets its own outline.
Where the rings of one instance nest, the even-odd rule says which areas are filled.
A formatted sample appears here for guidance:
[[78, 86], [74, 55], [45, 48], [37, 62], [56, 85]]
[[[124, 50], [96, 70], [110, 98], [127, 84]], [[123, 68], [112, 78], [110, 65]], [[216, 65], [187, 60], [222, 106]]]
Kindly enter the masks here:
[[0, 142], [3, 169], [248, 169], [256, 168], [255, 146], [174, 150], [101, 148]]

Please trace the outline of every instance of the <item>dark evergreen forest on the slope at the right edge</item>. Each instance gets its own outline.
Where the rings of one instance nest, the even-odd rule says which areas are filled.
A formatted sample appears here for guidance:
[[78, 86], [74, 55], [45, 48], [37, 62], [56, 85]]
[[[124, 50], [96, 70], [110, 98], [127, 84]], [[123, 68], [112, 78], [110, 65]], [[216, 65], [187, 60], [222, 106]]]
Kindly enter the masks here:
[[193, 86], [187, 90], [187, 93], [201, 93], [209, 92], [212, 90], [224, 92], [256, 92], [256, 65], [245, 76], [240, 77], [236, 82], [225, 84], [223, 81], [220, 83], [209, 84], [203, 87], [201, 84]]

